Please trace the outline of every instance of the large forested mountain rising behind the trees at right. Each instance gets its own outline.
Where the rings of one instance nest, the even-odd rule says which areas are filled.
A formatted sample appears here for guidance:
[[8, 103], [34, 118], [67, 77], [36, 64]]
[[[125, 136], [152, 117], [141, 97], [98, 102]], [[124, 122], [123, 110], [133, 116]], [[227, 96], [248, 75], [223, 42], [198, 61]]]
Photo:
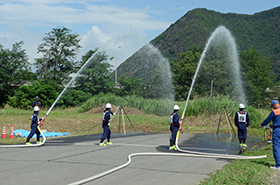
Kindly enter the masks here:
[[[254, 15], [194, 9], [150, 43], [169, 61], [175, 61], [179, 59], [179, 53], [204, 48], [211, 33], [220, 25], [231, 31], [238, 51], [256, 48], [263, 57], [270, 58], [274, 72], [280, 76], [280, 7]], [[147, 46], [144, 46], [123, 62], [117, 69], [118, 74], [146, 78], [155, 66], [143, 55], [146, 50]]]

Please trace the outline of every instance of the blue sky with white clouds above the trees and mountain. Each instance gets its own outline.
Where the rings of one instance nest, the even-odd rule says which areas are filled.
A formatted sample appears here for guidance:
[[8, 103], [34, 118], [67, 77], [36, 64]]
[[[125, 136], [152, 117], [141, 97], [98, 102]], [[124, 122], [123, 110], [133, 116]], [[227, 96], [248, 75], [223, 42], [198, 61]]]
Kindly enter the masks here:
[[253, 15], [278, 6], [279, 0], [0, 0], [0, 44], [11, 49], [23, 41], [33, 63], [45, 34], [63, 26], [79, 34], [77, 61], [99, 48], [115, 58], [114, 69], [190, 10]]

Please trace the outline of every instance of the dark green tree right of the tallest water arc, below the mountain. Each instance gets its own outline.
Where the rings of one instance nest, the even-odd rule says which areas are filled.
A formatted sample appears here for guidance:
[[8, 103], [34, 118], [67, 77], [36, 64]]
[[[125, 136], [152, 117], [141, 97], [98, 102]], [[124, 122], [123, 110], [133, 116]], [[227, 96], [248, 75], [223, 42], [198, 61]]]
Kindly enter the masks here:
[[266, 106], [277, 84], [274, 83], [276, 75], [272, 72], [269, 58], [262, 57], [254, 48], [241, 52], [241, 69], [244, 79], [246, 98], [249, 105]]

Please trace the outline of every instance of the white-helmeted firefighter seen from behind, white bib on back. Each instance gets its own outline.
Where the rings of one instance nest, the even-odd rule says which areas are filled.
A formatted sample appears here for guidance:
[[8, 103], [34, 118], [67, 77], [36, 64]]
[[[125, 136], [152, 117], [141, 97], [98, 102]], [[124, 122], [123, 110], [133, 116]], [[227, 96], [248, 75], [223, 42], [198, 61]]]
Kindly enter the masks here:
[[250, 125], [250, 118], [244, 108], [243, 104], [239, 105], [239, 111], [235, 113], [235, 126], [238, 130], [239, 146], [246, 148], [247, 127]]

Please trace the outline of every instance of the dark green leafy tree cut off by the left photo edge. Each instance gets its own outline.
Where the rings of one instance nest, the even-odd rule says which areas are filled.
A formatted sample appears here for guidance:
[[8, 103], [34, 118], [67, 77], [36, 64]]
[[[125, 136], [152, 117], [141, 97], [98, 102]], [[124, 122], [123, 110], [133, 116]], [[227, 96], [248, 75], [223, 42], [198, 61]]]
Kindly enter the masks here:
[[11, 50], [0, 45], [0, 105], [5, 104], [20, 85], [36, 78], [26, 51], [22, 49], [23, 44], [23, 41], [17, 42]]

